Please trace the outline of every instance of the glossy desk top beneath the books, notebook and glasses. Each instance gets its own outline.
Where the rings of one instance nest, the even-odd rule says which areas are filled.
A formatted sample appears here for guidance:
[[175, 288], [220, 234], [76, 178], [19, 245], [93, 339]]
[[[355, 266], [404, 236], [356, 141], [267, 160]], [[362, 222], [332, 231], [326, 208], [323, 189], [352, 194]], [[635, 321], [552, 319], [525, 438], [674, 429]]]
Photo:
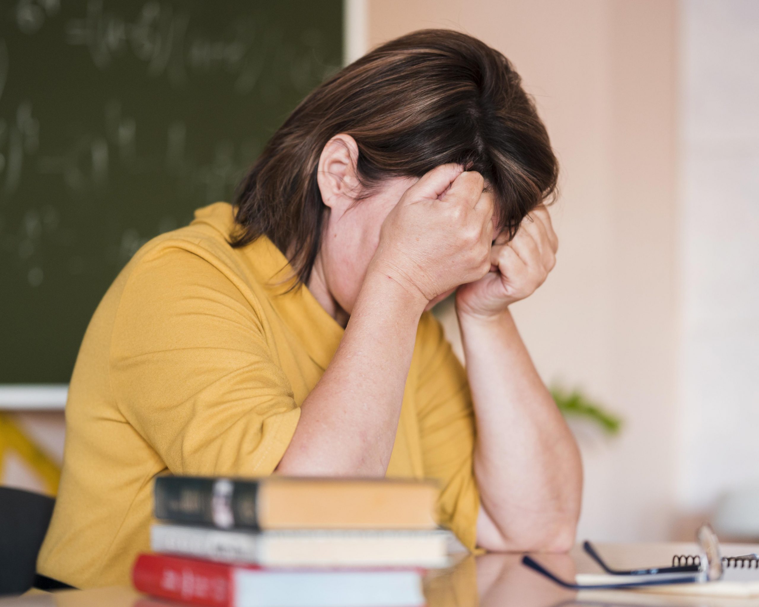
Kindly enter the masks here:
[[[600, 544], [600, 552], [620, 568], [666, 565], [674, 554], [693, 554], [692, 544]], [[745, 554], [759, 546], [723, 546], [726, 555]], [[568, 555], [536, 555], [540, 562], [571, 578], [598, 568], [579, 546]], [[448, 570], [431, 572], [426, 581], [429, 607], [757, 607], [759, 599], [668, 596], [633, 591], [575, 593], [556, 586], [521, 565], [521, 555], [467, 557]], [[172, 603], [145, 598], [128, 587], [63, 590], [13, 599], [0, 607], [166, 607]], [[174, 603], [173, 605], [178, 605]]]

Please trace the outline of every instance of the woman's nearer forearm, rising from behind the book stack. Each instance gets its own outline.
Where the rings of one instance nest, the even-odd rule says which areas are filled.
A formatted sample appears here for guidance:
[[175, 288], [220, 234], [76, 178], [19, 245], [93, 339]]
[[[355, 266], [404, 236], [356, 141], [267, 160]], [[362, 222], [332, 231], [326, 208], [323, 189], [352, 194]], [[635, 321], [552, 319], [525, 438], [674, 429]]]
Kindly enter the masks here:
[[335, 357], [301, 405], [279, 473], [384, 476], [425, 304], [370, 269]]

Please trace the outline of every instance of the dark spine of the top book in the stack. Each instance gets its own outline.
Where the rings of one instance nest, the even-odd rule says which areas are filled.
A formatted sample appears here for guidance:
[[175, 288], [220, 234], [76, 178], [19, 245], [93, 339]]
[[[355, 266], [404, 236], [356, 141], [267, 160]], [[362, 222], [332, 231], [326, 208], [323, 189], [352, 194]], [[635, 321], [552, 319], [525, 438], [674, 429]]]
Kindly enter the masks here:
[[197, 476], [159, 476], [154, 514], [162, 521], [258, 530], [258, 483]]

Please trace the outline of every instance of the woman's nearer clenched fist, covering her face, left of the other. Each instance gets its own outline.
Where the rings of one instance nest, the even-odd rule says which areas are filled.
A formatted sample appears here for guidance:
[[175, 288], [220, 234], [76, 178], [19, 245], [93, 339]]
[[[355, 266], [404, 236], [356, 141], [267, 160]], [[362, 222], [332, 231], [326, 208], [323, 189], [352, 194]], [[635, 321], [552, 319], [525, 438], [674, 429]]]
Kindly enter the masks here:
[[369, 272], [382, 272], [424, 299], [476, 281], [490, 270], [493, 197], [460, 165], [433, 168], [386, 217]]

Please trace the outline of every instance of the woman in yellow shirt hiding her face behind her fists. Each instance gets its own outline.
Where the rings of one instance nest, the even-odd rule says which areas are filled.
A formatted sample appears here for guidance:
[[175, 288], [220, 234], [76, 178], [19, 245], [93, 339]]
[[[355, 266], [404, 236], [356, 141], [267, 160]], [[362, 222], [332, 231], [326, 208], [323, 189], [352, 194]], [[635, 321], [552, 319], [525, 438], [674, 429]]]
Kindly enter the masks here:
[[[39, 572], [124, 583], [160, 473], [434, 477], [466, 546], [563, 551], [581, 464], [509, 314], [553, 268], [556, 159], [509, 62], [444, 30], [310, 94], [235, 207], [93, 316]], [[456, 291], [466, 371], [427, 310]]]

